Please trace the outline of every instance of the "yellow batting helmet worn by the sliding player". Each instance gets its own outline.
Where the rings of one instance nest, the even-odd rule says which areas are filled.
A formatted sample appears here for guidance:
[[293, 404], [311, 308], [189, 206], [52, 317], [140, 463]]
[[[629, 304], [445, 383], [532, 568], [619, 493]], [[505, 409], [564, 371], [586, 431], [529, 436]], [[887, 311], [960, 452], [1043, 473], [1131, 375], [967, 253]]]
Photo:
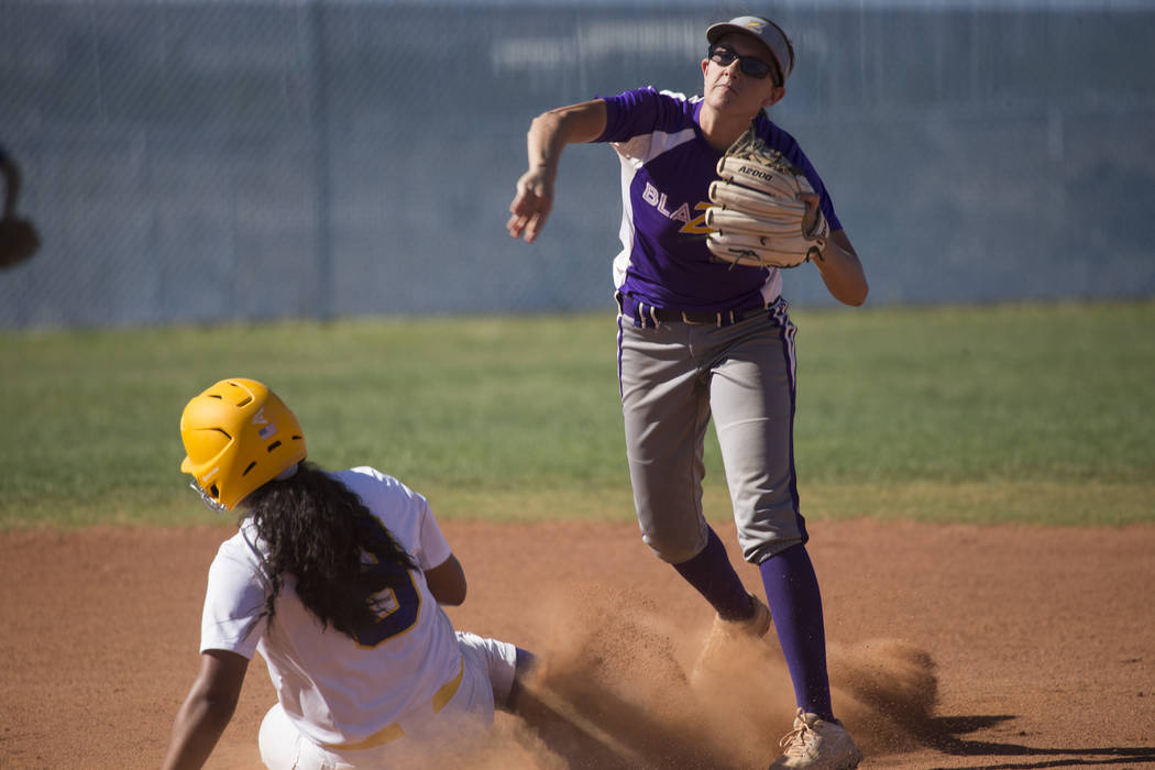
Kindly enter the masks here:
[[297, 417], [256, 380], [221, 380], [185, 406], [180, 470], [224, 510], [305, 459]]

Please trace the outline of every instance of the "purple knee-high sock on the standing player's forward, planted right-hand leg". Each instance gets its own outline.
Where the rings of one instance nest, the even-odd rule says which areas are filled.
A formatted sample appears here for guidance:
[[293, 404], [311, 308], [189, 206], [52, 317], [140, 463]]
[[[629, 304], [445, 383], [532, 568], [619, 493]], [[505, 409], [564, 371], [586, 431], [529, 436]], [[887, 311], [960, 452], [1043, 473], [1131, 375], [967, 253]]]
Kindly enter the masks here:
[[822, 597], [806, 547], [799, 544], [787, 548], [758, 569], [798, 705], [822, 719], [834, 719], [826, 670]]

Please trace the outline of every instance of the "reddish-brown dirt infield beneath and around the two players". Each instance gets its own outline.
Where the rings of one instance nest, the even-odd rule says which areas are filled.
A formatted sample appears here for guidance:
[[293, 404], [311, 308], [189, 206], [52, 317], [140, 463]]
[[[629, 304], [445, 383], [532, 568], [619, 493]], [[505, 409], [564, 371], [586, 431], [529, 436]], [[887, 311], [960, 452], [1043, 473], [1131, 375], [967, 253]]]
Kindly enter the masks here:
[[[732, 526], [717, 529], [733, 554]], [[688, 764], [648, 753], [655, 735], [693, 742], [702, 767], [772, 757], [792, 701], [773, 634], [728, 658], [737, 671], [716, 672], [713, 689], [666, 697], [710, 613], [634, 525], [444, 530], [470, 580], [454, 623], [560, 661], [556, 694], [609, 717], [635, 758]], [[1155, 526], [851, 521], [811, 533], [835, 709], [864, 768], [1155, 767]], [[0, 768], [159, 764], [199, 664], [208, 565], [229, 534], [0, 534]], [[757, 570], [738, 569], [761, 595]], [[598, 691], [601, 715], [588, 702]], [[209, 767], [261, 767], [256, 731], [273, 697], [258, 659]], [[504, 716], [485, 756], [470, 764], [582, 764]]]

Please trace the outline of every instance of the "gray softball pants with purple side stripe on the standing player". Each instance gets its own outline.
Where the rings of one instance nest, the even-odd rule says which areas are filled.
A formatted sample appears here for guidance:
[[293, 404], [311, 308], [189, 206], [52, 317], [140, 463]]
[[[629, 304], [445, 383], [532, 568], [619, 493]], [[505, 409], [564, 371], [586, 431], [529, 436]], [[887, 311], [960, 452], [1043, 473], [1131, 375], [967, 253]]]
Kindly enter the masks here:
[[795, 331], [778, 299], [730, 326], [618, 317], [626, 456], [642, 539], [680, 563], [706, 547], [702, 462], [713, 414], [743, 558], [806, 541], [793, 463]]

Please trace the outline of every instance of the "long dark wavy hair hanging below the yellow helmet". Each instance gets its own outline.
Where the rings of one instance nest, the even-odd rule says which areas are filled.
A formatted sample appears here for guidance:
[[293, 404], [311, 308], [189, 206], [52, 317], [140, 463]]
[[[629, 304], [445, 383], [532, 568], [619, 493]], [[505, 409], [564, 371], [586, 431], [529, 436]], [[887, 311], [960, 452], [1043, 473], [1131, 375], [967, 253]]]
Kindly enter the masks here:
[[[271, 591], [264, 614], [270, 622], [288, 574], [297, 578], [297, 596], [322, 627], [331, 625], [356, 638], [358, 629], [378, 619], [372, 597], [383, 588], [400, 589], [407, 570], [418, 569], [362, 499], [313, 463], [303, 462], [290, 478], [261, 486], [243, 504], [241, 521], [252, 519], [268, 550]], [[367, 574], [365, 554], [373, 563], [389, 561], [402, 569], [382, 585], [380, 570]]]

